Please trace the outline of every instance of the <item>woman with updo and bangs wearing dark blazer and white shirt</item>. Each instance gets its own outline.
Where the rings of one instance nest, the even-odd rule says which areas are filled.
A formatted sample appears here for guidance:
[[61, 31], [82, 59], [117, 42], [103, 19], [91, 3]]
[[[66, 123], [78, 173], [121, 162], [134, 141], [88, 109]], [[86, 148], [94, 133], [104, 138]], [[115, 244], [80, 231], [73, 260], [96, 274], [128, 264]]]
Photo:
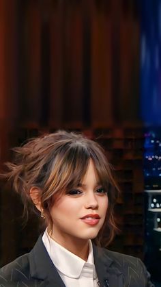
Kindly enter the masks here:
[[[152, 287], [138, 258], [108, 251], [119, 190], [104, 151], [81, 134], [59, 131], [15, 149], [5, 177], [25, 210], [35, 205], [46, 230], [31, 250], [0, 269], [0, 286]], [[92, 240], [92, 241], [91, 241]]]

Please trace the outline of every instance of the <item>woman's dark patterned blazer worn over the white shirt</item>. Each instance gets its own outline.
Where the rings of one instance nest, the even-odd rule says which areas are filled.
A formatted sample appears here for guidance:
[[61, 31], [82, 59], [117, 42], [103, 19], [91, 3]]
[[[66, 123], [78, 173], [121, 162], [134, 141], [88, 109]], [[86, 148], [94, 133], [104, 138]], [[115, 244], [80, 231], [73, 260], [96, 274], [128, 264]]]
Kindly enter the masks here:
[[[140, 259], [93, 245], [100, 287], [154, 287]], [[42, 236], [31, 252], [0, 269], [1, 287], [65, 287]]]

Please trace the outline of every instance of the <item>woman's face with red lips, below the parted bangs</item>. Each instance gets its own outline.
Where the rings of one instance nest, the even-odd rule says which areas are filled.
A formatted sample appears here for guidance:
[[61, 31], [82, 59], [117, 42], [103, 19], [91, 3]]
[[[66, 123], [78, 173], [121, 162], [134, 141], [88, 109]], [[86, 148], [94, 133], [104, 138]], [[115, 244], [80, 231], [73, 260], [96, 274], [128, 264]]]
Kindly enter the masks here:
[[55, 200], [50, 210], [53, 219], [51, 237], [64, 247], [69, 240], [96, 238], [108, 208], [106, 191], [90, 160], [82, 182]]

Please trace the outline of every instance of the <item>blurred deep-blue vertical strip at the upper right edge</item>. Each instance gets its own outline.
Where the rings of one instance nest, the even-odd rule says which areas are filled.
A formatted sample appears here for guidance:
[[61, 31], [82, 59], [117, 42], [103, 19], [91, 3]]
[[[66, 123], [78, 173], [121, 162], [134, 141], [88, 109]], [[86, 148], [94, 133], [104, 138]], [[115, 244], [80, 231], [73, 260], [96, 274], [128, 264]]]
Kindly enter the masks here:
[[141, 118], [161, 125], [161, 0], [141, 3]]

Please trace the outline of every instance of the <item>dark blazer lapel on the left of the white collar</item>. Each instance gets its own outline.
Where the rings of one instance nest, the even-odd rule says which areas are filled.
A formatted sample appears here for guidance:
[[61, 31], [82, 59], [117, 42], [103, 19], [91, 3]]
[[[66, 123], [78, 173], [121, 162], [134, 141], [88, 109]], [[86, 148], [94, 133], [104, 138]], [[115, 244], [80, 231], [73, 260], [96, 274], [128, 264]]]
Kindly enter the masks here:
[[44, 247], [42, 236], [29, 253], [31, 277], [40, 282], [41, 287], [65, 287], [55, 265]]

